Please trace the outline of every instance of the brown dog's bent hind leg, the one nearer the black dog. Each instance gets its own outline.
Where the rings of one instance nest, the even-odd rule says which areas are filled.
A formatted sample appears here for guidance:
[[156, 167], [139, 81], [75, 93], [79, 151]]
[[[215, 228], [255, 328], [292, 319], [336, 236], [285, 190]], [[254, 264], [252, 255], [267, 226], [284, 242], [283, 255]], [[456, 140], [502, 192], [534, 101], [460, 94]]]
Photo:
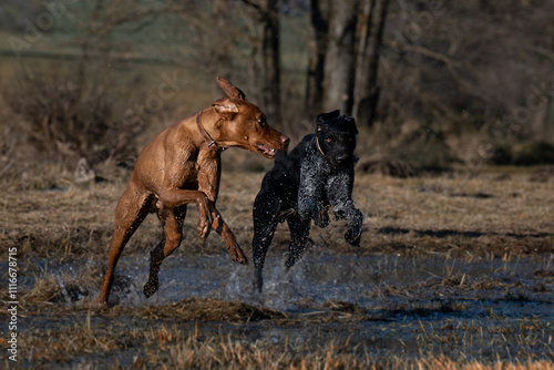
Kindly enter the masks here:
[[158, 212], [164, 236], [162, 241], [150, 254], [150, 276], [144, 286], [144, 296], [152, 297], [160, 287], [157, 274], [165, 257], [170, 256], [179, 245], [183, 233], [183, 223], [186, 215], [186, 205], [178, 208], [165, 208]]

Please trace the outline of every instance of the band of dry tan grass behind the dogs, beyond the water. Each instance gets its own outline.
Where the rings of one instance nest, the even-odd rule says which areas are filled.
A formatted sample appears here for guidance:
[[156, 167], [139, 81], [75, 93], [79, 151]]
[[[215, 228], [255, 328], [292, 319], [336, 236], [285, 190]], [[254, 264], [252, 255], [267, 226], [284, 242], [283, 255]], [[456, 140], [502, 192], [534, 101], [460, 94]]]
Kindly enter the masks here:
[[[511, 168], [503, 173], [510, 174]], [[316, 245], [345, 253], [450, 253], [465, 257], [505, 257], [550, 254], [554, 233], [554, 185], [531, 182], [530, 174], [502, 172], [475, 178], [464, 175], [392, 178], [357, 176], [353, 199], [365, 215], [359, 249], [346, 245], [343, 224], [312, 228]], [[261, 173], [224, 173], [218, 208], [245, 248], [252, 240], [252, 205]], [[98, 183], [64, 191], [4, 192], [0, 201], [0, 243], [20, 254], [71, 258], [103, 254], [112, 234], [114, 208], [124, 183]], [[213, 233], [206, 245], [194, 228], [196, 209], [189, 207], [181, 253], [222, 251]], [[125, 249], [145, 253], [160, 237], [150, 216]], [[288, 232], [279, 227], [273, 250], [287, 247]]]

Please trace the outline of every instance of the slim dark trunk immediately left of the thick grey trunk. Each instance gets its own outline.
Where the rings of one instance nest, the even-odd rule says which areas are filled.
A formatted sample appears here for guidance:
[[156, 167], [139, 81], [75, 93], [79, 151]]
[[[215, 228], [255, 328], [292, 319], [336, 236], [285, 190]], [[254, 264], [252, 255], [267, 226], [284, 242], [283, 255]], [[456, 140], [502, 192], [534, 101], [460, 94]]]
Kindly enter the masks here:
[[329, 34], [329, 0], [310, 1], [311, 42], [306, 85], [306, 111], [317, 114], [324, 100], [325, 55]]

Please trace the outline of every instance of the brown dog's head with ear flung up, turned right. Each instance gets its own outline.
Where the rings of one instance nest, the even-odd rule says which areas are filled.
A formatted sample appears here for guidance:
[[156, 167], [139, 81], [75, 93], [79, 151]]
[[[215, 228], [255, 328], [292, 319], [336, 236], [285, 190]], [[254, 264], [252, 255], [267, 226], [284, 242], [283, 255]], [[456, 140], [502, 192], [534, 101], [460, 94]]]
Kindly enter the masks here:
[[267, 158], [275, 157], [276, 151], [287, 148], [289, 138], [271, 129], [264, 113], [249, 103], [239, 89], [219, 76], [217, 83], [227, 94], [226, 97], [216, 100], [212, 104], [222, 117], [218, 143], [224, 146], [243, 147]]

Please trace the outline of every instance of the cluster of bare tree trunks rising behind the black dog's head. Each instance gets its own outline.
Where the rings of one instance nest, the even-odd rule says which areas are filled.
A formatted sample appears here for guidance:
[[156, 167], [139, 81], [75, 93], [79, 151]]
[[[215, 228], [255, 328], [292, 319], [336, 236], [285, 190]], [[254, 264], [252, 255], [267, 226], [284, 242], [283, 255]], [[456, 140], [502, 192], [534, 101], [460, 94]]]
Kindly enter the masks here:
[[389, 0], [310, 1], [308, 111], [340, 109], [371, 125], [379, 99], [377, 50], [388, 3]]

